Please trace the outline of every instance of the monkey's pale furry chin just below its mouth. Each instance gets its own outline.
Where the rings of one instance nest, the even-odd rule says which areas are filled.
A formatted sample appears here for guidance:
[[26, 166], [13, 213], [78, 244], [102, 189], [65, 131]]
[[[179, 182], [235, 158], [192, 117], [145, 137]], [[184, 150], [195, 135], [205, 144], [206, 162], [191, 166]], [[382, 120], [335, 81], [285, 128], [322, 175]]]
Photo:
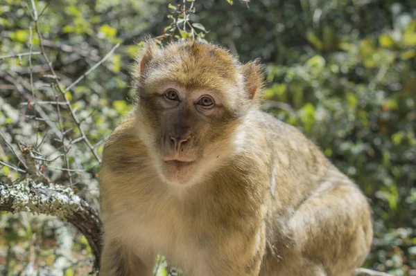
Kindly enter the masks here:
[[162, 178], [171, 185], [190, 185], [193, 183], [193, 174], [196, 170], [196, 161], [183, 162], [179, 160], [163, 161]]

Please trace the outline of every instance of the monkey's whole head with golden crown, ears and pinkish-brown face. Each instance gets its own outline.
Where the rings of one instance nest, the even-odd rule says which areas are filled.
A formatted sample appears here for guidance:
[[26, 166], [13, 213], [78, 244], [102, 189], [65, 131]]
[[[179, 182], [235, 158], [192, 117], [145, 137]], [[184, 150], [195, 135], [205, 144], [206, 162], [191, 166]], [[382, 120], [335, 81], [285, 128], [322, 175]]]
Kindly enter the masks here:
[[227, 50], [200, 42], [165, 48], [148, 42], [132, 76], [137, 134], [162, 180], [176, 185], [209, 177], [238, 150], [263, 79], [257, 61], [241, 64]]

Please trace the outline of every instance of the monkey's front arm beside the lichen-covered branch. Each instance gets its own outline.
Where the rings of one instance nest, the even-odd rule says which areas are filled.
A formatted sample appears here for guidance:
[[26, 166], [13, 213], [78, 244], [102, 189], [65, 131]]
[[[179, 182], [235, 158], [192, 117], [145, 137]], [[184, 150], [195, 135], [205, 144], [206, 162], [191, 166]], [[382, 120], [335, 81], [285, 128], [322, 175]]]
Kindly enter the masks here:
[[[131, 227], [132, 204], [126, 203], [135, 193], [132, 180], [141, 165], [142, 146], [132, 129], [132, 117], [126, 118], [105, 143], [100, 178], [101, 213], [104, 224], [103, 252], [99, 276], [153, 275], [155, 255], [141, 250], [141, 244], [123, 232]], [[129, 202], [130, 202], [129, 201]], [[126, 206], [128, 206], [126, 208]], [[132, 219], [132, 218], [131, 218]], [[133, 219], [134, 220], [134, 219]]]

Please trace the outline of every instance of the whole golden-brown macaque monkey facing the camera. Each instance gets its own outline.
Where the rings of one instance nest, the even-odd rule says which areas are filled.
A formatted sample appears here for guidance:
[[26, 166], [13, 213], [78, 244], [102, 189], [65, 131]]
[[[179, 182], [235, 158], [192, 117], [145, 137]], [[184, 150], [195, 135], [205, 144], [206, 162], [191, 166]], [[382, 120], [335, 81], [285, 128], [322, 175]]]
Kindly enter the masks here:
[[148, 42], [134, 112], [99, 173], [101, 276], [350, 276], [372, 242], [363, 193], [295, 127], [259, 110], [259, 62]]

